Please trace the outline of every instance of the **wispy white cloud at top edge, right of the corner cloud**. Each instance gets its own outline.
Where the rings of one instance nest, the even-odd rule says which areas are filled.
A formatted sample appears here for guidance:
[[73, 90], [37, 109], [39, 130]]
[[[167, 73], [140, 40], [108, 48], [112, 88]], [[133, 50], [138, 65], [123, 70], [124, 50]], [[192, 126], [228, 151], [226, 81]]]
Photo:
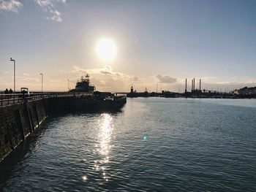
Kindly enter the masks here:
[[35, 0], [44, 12], [50, 13], [50, 16], [46, 17], [48, 20], [54, 20], [61, 22], [61, 12], [56, 9], [56, 4], [66, 4], [66, 0]]

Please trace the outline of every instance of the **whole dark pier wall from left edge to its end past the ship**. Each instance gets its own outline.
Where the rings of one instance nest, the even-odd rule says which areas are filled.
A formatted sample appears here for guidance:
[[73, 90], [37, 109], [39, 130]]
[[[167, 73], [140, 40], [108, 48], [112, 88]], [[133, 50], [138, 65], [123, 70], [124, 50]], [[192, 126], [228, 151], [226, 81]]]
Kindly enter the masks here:
[[[37, 98], [37, 97], [35, 97]], [[39, 127], [45, 118], [56, 112], [97, 112], [120, 110], [125, 96], [50, 95], [0, 107], [0, 162]]]

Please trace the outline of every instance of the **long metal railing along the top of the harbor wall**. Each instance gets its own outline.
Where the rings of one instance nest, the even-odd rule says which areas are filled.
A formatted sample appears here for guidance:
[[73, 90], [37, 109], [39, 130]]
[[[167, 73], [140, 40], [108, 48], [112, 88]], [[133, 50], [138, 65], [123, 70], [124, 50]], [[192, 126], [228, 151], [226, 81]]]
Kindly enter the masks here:
[[15, 94], [1, 94], [0, 95], [0, 106], [23, 103], [26, 101], [32, 101], [42, 98], [53, 98], [53, 97], [70, 97], [78, 96], [79, 93], [15, 93]]

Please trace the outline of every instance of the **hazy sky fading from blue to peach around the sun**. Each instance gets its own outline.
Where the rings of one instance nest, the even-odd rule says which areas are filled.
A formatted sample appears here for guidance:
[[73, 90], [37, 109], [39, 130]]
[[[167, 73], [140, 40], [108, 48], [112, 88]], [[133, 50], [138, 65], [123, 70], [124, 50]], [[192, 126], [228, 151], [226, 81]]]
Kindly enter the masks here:
[[[104, 61], [97, 42], [110, 39]], [[230, 91], [256, 86], [256, 1], [0, 0], [0, 90]], [[68, 84], [69, 81], [69, 84]]]

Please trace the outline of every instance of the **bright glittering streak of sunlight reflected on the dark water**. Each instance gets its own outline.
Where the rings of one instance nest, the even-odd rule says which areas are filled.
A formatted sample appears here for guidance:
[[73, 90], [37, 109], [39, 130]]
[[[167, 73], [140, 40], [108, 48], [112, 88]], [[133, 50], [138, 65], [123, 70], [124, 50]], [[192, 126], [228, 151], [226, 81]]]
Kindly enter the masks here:
[[111, 136], [113, 132], [113, 118], [109, 114], [102, 114], [101, 120], [99, 120], [98, 129], [98, 144], [95, 145], [94, 153], [99, 155], [99, 159], [94, 160], [94, 170], [102, 172], [102, 178], [106, 181], [109, 180], [110, 176], [106, 172], [106, 164], [109, 163]]

